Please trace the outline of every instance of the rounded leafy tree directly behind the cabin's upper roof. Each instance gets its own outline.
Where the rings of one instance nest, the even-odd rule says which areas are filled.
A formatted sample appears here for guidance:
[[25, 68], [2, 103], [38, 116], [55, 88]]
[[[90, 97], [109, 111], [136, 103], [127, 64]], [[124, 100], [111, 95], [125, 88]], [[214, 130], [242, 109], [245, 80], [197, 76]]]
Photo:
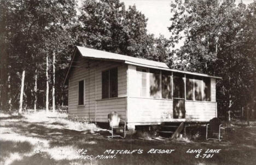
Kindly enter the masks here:
[[152, 59], [157, 42], [147, 34], [147, 19], [135, 5], [126, 10], [119, 0], [84, 1], [78, 20], [74, 28], [78, 45]]

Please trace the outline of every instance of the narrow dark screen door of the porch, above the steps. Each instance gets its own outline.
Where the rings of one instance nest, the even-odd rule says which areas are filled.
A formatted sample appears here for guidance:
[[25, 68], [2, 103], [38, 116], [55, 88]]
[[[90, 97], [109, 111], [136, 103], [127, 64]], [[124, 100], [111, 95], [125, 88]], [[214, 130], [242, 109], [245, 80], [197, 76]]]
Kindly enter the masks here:
[[185, 119], [184, 74], [173, 74], [173, 119]]

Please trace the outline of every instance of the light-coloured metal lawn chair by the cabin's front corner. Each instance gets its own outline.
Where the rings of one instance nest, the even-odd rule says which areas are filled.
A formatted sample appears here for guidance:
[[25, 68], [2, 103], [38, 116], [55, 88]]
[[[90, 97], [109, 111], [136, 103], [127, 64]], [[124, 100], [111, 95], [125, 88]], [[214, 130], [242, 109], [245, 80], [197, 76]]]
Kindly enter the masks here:
[[[119, 126], [120, 121], [124, 122], [124, 127]], [[108, 114], [108, 122], [109, 122], [109, 127], [110, 127], [110, 133], [111, 135], [107, 136], [108, 138], [113, 138], [113, 137], [120, 137], [120, 138], [125, 138], [125, 128], [126, 128], [126, 122], [124, 120], [121, 120], [117, 112], [112, 112]], [[114, 135], [114, 132], [116, 130], [121, 130], [123, 129], [124, 131], [124, 136], [122, 137], [121, 135]]]

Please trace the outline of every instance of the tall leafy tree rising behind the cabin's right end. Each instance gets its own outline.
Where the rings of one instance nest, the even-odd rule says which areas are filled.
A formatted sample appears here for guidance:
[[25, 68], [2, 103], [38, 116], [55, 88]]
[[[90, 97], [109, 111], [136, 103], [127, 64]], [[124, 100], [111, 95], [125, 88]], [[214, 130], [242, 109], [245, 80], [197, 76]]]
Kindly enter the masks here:
[[233, 0], [176, 0], [171, 11], [171, 43], [185, 38], [184, 46], [173, 52], [173, 67], [222, 76], [217, 82], [220, 109], [230, 112], [245, 105], [252, 87], [251, 65], [241, 51], [248, 39], [243, 38], [242, 27], [246, 5], [237, 6]]

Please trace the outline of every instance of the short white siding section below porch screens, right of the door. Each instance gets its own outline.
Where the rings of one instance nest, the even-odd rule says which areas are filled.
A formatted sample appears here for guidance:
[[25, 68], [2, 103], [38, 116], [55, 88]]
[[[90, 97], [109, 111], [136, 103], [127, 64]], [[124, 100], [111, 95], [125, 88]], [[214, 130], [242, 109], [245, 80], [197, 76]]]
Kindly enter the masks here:
[[185, 101], [186, 119], [211, 120], [216, 117], [216, 103]]

